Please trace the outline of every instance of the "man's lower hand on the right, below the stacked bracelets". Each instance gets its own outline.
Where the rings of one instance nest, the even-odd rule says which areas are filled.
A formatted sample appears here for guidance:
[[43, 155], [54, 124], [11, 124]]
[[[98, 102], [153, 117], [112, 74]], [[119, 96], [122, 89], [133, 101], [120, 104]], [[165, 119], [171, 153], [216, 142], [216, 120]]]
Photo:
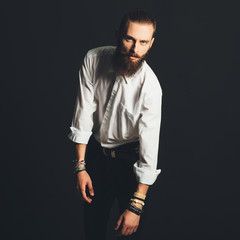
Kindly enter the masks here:
[[120, 229], [120, 235], [131, 235], [132, 233], [137, 231], [139, 225], [140, 216], [130, 212], [129, 210], [125, 210], [123, 214], [119, 217], [117, 221], [117, 226], [115, 230], [118, 230], [120, 225], [122, 224], [122, 229]]

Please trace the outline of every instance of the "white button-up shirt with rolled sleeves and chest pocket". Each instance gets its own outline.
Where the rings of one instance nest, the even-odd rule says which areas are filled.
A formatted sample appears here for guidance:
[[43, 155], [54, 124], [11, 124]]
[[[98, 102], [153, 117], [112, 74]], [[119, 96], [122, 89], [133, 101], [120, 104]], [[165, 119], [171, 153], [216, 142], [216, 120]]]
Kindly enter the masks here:
[[138, 182], [152, 185], [157, 170], [162, 91], [144, 61], [131, 77], [112, 70], [115, 47], [90, 50], [79, 71], [79, 91], [69, 138], [88, 143], [92, 133], [106, 148], [139, 140], [133, 169]]

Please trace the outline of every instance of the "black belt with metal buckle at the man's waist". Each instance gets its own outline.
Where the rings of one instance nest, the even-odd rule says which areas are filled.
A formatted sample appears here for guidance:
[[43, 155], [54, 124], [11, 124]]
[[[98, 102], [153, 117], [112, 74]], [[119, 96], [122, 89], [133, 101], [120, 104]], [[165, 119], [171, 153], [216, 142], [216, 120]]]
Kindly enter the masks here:
[[131, 142], [115, 148], [101, 147], [103, 154], [107, 157], [117, 158], [123, 154], [139, 153], [139, 142]]

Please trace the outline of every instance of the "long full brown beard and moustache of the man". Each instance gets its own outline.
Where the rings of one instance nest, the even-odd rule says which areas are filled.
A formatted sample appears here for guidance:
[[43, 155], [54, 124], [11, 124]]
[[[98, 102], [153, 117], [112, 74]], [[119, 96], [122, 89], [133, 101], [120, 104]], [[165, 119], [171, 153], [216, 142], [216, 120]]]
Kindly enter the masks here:
[[[141, 68], [148, 52], [140, 57], [136, 53], [122, 53], [121, 49], [122, 47], [118, 45], [113, 60], [114, 71], [117, 75], [130, 77]], [[129, 56], [136, 57], [137, 59], [135, 61], [131, 61]]]

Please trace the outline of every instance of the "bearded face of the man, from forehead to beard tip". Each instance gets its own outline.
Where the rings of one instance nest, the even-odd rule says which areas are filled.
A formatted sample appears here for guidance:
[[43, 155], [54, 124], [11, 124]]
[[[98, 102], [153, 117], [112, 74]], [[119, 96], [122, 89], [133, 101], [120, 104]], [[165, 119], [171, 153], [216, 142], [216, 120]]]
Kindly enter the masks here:
[[137, 72], [153, 44], [153, 31], [152, 24], [129, 22], [126, 33], [118, 39], [115, 59], [118, 74], [131, 76]]

